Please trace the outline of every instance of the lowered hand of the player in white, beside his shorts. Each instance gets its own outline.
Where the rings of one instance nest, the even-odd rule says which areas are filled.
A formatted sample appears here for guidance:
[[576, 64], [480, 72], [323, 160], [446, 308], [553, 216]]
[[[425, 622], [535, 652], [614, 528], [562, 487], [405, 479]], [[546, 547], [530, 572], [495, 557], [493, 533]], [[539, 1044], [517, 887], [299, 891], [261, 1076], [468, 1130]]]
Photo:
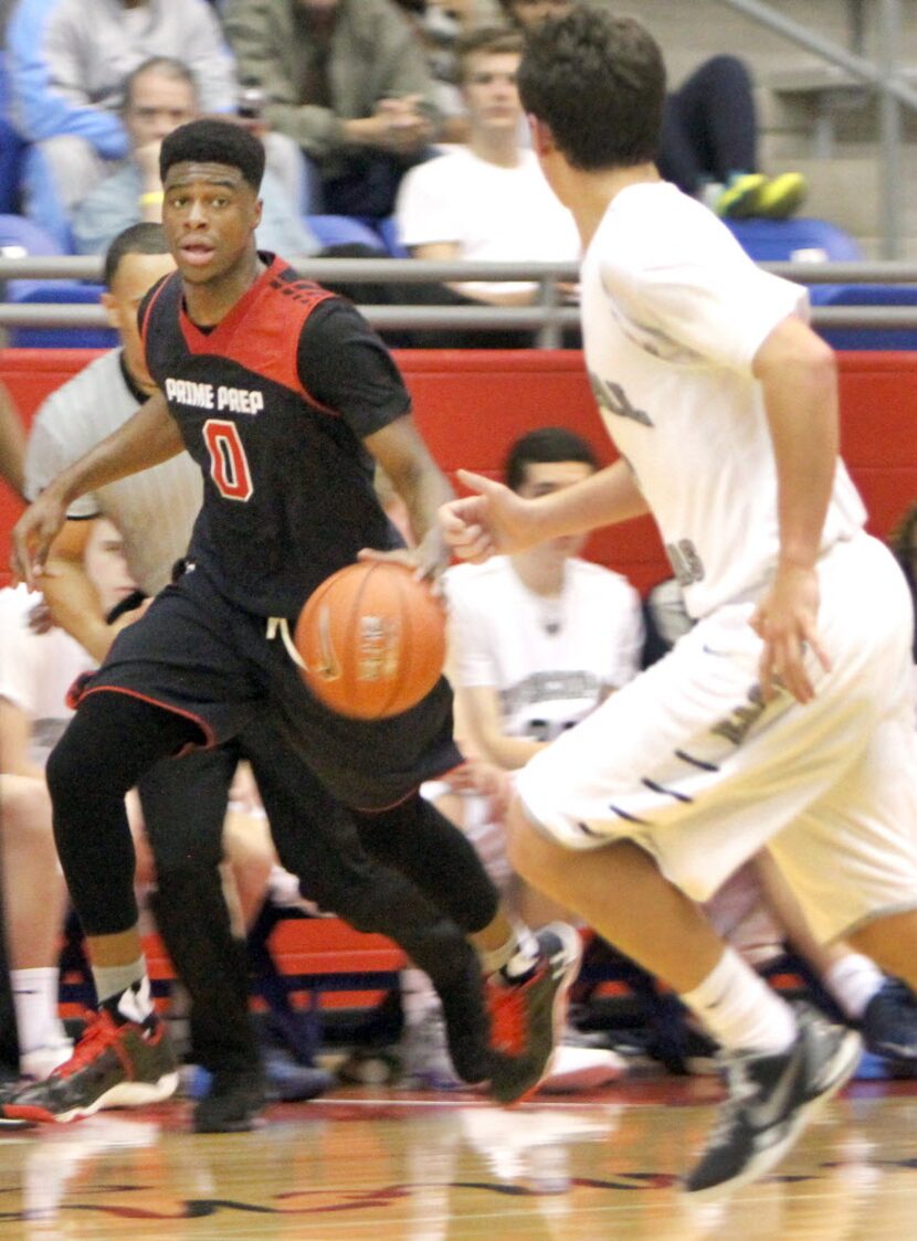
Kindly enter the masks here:
[[770, 589], [760, 601], [750, 625], [763, 639], [760, 690], [765, 702], [779, 681], [799, 702], [810, 702], [815, 688], [805, 666], [809, 650], [829, 671], [831, 661], [818, 637], [819, 583], [814, 568], [782, 562]]

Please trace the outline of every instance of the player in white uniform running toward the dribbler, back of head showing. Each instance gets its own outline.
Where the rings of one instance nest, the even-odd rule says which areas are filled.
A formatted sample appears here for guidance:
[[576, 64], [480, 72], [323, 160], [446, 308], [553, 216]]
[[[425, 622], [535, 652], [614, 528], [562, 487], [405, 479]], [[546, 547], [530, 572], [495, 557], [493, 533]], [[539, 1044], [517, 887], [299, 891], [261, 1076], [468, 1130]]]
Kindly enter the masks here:
[[693, 1194], [763, 1174], [852, 1072], [857, 1037], [796, 1014], [726, 948], [707, 898], [765, 841], [820, 938], [917, 984], [911, 612], [837, 457], [830, 350], [654, 164], [661, 55], [630, 19], [537, 31], [519, 88], [584, 243], [586, 365], [621, 459], [442, 513], [466, 558], [650, 511], [698, 619], [518, 778], [511, 860], [666, 979], [728, 1052]]

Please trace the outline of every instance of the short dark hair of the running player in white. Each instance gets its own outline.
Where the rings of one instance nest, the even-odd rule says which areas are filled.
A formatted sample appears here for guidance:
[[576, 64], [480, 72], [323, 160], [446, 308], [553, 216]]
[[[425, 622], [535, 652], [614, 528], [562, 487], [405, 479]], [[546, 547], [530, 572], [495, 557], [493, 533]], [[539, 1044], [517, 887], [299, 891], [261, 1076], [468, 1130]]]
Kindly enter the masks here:
[[544, 122], [573, 168], [652, 163], [659, 151], [666, 67], [632, 17], [582, 5], [533, 30], [518, 72], [527, 113]]

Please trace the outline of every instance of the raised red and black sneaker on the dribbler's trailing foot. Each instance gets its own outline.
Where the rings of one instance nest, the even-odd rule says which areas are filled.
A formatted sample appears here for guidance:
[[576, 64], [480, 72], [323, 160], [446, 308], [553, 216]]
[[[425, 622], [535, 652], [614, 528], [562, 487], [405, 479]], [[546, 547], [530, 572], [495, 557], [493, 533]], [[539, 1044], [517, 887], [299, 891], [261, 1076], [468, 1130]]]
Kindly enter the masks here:
[[565, 922], [537, 933], [538, 965], [524, 982], [487, 979], [491, 1014], [490, 1093], [518, 1103], [548, 1076], [567, 1016], [567, 997], [579, 973], [582, 942]]

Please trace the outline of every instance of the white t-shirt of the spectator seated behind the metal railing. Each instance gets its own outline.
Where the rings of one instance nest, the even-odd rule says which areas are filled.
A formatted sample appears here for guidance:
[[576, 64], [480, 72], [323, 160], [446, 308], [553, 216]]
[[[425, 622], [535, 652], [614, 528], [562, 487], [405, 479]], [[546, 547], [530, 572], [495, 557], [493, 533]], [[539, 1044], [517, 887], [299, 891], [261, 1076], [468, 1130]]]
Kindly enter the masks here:
[[[395, 215], [401, 243], [409, 248], [457, 242], [463, 259], [502, 263], [574, 263], [580, 256], [573, 216], [544, 180], [531, 150], [519, 151], [514, 168], [490, 164], [465, 146], [417, 164], [401, 181]], [[480, 288], [526, 285], [462, 285], [468, 297]]]

